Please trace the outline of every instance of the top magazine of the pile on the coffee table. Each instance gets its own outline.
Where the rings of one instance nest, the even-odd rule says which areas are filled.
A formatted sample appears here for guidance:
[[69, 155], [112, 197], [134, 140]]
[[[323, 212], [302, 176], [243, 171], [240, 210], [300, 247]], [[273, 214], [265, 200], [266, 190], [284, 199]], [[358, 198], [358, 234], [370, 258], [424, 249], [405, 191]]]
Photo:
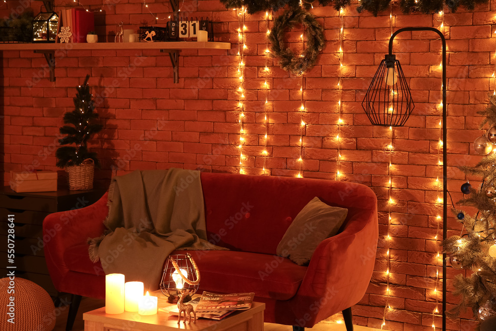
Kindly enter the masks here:
[[255, 293], [215, 294], [203, 292], [196, 306], [196, 312], [211, 310], [245, 310], [251, 308]]

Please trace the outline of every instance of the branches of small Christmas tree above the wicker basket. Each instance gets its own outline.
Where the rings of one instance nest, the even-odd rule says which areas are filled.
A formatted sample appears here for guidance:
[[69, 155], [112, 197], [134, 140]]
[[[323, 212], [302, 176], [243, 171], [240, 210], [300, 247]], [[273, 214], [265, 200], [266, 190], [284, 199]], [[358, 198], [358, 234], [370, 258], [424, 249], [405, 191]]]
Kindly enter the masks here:
[[67, 166], [80, 165], [86, 159], [93, 159], [95, 165], [99, 162], [95, 152], [88, 151], [88, 140], [94, 133], [102, 130], [102, 125], [94, 123], [98, 119], [98, 114], [94, 112], [95, 106], [91, 100], [90, 87], [88, 85], [89, 75], [86, 75], [84, 83], [76, 90], [74, 100], [74, 110], [67, 112], [63, 116], [64, 125], [60, 128], [61, 134], [67, 136], [59, 139], [61, 145], [74, 144], [75, 146], [62, 146], [57, 149], [57, 166], [65, 168]]

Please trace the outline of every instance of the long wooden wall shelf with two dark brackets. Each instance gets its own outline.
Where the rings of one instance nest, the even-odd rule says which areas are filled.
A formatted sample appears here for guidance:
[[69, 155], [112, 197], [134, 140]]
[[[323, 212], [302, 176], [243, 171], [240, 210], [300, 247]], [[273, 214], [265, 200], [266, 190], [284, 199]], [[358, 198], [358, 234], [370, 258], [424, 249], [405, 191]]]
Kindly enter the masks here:
[[229, 50], [230, 43], [173, 41], [173, 42], [138, 42], [138, 43], [30, 43], [30, 44], [0, 44], [0, 51], [34, 51], [45, 56], [50, 68], [50, 81], [55, 81], [55, 51], [59, 50], [160, 50], [169, 53], [174, 69], [174, 82], [179, 83], [179, 53], [181, 50]]

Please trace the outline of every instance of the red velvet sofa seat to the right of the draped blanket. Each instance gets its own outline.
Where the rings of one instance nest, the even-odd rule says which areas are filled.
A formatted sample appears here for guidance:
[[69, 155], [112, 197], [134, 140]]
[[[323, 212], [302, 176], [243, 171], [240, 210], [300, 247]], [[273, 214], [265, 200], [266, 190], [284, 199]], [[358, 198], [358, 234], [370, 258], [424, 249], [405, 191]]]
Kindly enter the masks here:
[[[175, 251], [172, 254], [184, 254]], [[307, 267], [279, 256], [235, 251], [187, 251], [200, 270], [200, 291], [255, 292], [255, 296], [291, 299]]]

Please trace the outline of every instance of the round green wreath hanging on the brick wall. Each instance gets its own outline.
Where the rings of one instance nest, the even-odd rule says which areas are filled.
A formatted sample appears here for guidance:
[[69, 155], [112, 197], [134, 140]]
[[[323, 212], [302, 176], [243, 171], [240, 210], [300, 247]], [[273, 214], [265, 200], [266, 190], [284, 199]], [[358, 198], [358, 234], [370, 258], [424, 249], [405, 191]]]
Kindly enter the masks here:
[[[307, 38], [307, 48], [303, 56], [295, 56], [284, 43], [285, 30], [296, 23], [302, 23]], [[286, 71], [299, 76], [310, 70], [317, 60], [318, 53], [324, 49], [324, 30], [315, 16], [301, 7], [289, 8], [274, 20], [269, 42], [272, 45], [272, 57], [279, 58], [279, 65]]]

